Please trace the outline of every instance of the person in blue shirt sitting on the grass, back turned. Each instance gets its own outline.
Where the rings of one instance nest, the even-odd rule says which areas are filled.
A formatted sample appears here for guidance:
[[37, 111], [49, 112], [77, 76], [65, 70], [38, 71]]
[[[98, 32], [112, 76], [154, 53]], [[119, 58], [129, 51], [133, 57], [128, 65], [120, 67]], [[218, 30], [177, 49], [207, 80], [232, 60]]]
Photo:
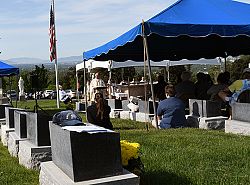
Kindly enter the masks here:
[[172, 85], [165, 88], [166, 96], [169, 98], [159, 102], [157, 108], [160, 128], [179, 128], [186, 125], [185, 105], [175, 97], [175, 90]]

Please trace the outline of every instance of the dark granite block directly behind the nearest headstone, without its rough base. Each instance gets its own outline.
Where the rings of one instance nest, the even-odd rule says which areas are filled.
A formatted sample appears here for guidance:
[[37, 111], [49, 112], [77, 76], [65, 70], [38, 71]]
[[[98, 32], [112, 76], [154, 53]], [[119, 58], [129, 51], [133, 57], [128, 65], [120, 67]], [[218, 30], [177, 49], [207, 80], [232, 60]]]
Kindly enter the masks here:
[[27, 112], [27, 138], [36, 146], [50, 146], [49, 121], [52, 116], [46, 113]]

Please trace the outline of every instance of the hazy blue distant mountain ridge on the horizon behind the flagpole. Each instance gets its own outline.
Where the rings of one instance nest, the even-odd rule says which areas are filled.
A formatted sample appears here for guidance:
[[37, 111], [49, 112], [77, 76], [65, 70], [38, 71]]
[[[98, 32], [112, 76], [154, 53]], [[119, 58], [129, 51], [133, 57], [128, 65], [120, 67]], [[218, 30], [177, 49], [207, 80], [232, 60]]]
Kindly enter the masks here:
[[[11, 65], [15, 64], [48, 64], [51, 63], [49, 60], [43, 60], [40, 58], [29, 58], [29, 57], [21, 57], [21, 58], [10, 58], [8, 60], [2, 60]], [[58, 58], [58, 63], [62, 64], [78, 64], [82, 61], [82, 56], [70, 56], [70, 57], [62, 57]]]

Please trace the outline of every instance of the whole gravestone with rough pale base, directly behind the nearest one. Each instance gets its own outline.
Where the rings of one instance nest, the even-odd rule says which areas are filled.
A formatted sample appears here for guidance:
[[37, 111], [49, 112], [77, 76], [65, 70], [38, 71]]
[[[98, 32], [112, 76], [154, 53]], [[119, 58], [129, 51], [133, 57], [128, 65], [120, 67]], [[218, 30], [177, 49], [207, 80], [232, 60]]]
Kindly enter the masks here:
[[19, 164], [39, 170], [41, 162], [51, 161], [49, 121], [58, 110], [27, 112], [27, 138], [19, 142]]

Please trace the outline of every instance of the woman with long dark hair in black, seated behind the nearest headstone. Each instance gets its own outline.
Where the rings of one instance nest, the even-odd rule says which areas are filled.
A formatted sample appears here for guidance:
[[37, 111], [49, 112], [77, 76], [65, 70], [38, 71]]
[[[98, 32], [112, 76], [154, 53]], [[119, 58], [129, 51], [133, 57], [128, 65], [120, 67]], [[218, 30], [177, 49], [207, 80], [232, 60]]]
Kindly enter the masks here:
[[103, 95], [101, 93], [96, 93], [94, 100], [95, 102], [87, 107], [88, 122], [107, 129], [113, 129], [109, 117], [111, 109], [104, 100]]

